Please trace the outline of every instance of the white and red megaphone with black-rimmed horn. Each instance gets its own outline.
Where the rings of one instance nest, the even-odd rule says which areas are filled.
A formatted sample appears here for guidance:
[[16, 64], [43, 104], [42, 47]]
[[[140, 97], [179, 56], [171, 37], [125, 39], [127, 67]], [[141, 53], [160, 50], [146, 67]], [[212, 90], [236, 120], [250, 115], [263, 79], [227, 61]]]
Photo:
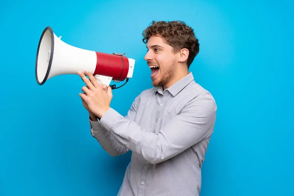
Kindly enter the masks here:
[[[73, 47], [63, 42], [61, 36], [57, 37], [47, 26], [39, 40], [35, 74], [37, 83], [43, 85], [56, 75], [89, 71], [99, 83], [109, 86], [111, 81], [126, 79], [127, 82], [133, 76], [134, 66], [135, 60], [123, 53], [108, 54]], [[122, 87], [110, 86], [112, 89]]]

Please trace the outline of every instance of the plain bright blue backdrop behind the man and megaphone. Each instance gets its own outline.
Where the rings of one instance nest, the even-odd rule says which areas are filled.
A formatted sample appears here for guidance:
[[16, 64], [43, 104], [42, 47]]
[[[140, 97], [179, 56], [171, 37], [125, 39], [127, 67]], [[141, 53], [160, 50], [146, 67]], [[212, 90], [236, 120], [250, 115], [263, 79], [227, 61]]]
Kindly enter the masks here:
[[[0, 2], [0, 196], [115, 196], [130, 152], [109, 156], [91, 136], [78, 75], [39, 86], [46, 26], [72, 46], [136, 59], [113, 91], [125, 115], [151, 88], [142, 31], [152, 20], [191, 25], [190, 71], [218, 104], [201, 196], [294, 195], [294, 28], [290, 0], [51, 0]], [[171, 171], [172, 172], [172, 171]]]

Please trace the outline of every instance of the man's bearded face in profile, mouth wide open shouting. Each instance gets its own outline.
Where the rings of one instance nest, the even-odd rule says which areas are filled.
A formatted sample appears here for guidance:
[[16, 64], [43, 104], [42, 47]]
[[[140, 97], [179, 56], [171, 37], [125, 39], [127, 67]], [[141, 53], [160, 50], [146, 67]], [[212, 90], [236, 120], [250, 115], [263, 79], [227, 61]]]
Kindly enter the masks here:
[[174, 53], [170, 45], [158, 36], [151, 36], [147, 43], [145, 60], [151, 69], [152, 85], [168, 85], [175, 73], [179, 54]]

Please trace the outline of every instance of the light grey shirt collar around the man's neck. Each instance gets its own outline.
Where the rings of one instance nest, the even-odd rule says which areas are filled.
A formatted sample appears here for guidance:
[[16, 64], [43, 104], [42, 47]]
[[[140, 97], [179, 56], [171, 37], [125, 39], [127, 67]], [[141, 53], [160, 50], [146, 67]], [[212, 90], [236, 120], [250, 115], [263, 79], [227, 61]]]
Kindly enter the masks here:
[[[185, 86], [187, 86], [190, 82], [194, 80], [194, 76], [192, 72], [189, 72], [188, 75], [174, 83], [172, 86], [170, 86], [166, 91], [169, 91], [173, 97], [175, 97]], [[158, 92], [159, 94], [163, 94], [163, 88], [162, 86], [157, 87], [157, 90], [155, 92]]]

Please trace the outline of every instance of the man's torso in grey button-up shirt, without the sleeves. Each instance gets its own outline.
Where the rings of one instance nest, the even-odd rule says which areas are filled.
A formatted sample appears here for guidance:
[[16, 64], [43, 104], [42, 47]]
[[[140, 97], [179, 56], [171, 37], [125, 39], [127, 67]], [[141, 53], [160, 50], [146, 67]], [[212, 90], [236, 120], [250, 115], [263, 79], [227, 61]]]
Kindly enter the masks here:
[[[190, 78], [191, 79], [191, 78]], [[181, 89], [152, 88], [140, 95], [134, 122], [147, 132], [158, 134], [166, 123], [180, 114], [187, 103], [211, 94], [196, 82], [190, 81]], [[181, 127], [174, 127], [181, 133]], [[178, 155], [157, 164], [132, 153], [119, 196], [197, 196], [201, 187], [201, 166], [211, 134]], [[168, 150], [168, 149], [165, 149]]]

